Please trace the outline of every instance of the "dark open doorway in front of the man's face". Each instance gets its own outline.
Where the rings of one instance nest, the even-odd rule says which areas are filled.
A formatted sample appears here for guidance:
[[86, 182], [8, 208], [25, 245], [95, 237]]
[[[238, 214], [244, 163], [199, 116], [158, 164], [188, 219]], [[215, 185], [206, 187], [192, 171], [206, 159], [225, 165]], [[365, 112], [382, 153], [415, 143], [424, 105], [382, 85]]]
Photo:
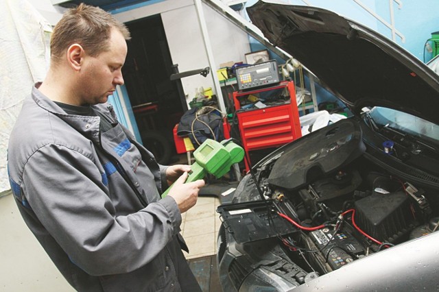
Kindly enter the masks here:
[[186, 102], [180, 96], [180, 80], [174, 73], [161, 16], [126, 23], [130, 29], [123, 79], [143, 145], [166, 165], [176, 154], [173, 128], [180, 121]]

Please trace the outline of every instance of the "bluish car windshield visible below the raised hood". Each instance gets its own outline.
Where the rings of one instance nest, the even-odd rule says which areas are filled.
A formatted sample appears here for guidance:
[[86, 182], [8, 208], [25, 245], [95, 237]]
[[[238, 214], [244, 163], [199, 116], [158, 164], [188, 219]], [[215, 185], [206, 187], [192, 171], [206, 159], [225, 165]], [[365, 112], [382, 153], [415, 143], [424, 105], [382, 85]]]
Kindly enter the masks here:
[[435, 123], [390, 108], [375, 107], [369, 114], [378, 127], [391, 127], [439, 145], [439, 125]]

